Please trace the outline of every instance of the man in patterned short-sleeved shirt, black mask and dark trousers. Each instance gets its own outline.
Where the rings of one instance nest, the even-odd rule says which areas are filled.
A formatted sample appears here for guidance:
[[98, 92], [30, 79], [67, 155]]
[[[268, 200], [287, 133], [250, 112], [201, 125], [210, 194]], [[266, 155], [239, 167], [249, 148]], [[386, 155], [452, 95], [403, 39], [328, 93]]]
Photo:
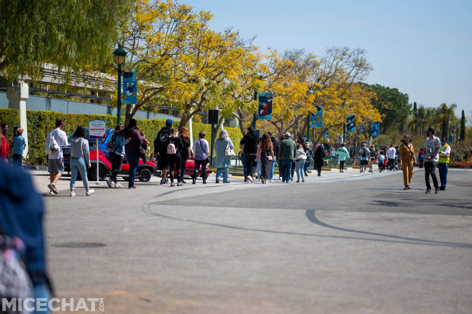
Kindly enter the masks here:
[[439, 161], [439, 150], [441, 149], [441, 142], [437, 136], [434, 136], [436, 129], [434, 127], [428, 128], [426, 135], [428, 136], [424, 141], [425, 161], [424, 161], [424, 179], [426, 181], [426, 194], [431, 193], [430, 176], [433, 180], [435, 193], [439, 193], [438, 178], [436, 178], [436, 166]]

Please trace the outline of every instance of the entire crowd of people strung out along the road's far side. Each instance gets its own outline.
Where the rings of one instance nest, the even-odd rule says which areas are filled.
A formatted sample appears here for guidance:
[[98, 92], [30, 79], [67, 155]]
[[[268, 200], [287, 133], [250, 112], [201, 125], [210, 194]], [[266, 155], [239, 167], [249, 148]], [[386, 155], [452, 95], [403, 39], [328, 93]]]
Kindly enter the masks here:
[[[194, 173], [192, 176], [192, 184], [196, 184], [199, 175], [202, 177], [202, 184], [206, 184], [208, 177], [207, 165], [210, 164], [210, 144], [205, 139], [205, 132], [198, 134], [198, 139], [194, 143], [190, 143], [189, 131], [186, 127], [182, 127], [179, 131], [172, 127], [174, 121], [168, 119], [165, 127], [162, 127], [154, 140], [154, 158], [161, 170], [160, 185], [168, 185], [170, 178], [170, 186], [182, 186], [185, 184], [183, 178], [185, 173], [185, 163], [190, 156], [194, 157]], [[67, 135], [62, 130], [64, 125], [63, 119], [56, 119], [56, 127], [52, 129], [46, 136], [45, 151], [48, 153], [48, 171], [50, 173], [50, 194], [58, 194], [56, 183], [64, 172], [64, 160], [62, 147], [67, 146]], [[0, 157], [3, 161], [8, 158], [8, 141], [5, 135], [8, 132], [8, 125], [0, 124]], [[23, 147], [25, 138], [22, 136], [23, 129], [15, 127], [13, 147], [13, 165], [21, 167]], [[413, 166], [419, 164], [419, 168], [425, 169], [426, 193], [431, 193], [429, 178], [433, 181], [435, 193], [446, 190], [447, 170], [449, 164], [450, 146], [447, 144], [446, 137], [440, 140], [434, 136], [434, 128], [427, 130], [423, 147], [416, 154], [412, 144], [412, 137], [405, 135], [400, 146], [391, 144], [380, 145], [376, 150], [374, 145], [367, 147], [366, 143], [362, 143], [358, 150], [360, 172], [372, 172], [373, 165], [377, 164], [379, 170], [399, 170], [403, 171], [405, 190], [410, 189], [411, 179], [414, 173]], [[91, 168], [89, 142], [85, 136], [85, 127], [78, 126], [74, 132], [74, 136], [70, 142], [70, 196], [76, 196], [75, 181], [80, 173], [82, 177], [86, 195], [91, 195], [94, 190], [89, 188], [87, 180], [87, 168]], [[137, 188], [135, 185], [135, 176], [139, 163], [139, 159], [145, 161], [144, 151], [147, 149], [147, 140], [143, 132], [139, 131], [137, 121], [130, 119], [128, 125], [124, 127], [118, 124], [113, 131], [107, 144], [109, 150], [109, 160], [111, 163], [111, 176], [107, 180], [109, 187], [122, 187], [118, 183], [117, 176], [121, 171], [123, 159], [129, 164], [129, 180], [128, 188]], [[216, 168], [215, 182], [230, 183], [229, 167], [231, 166], [231, 157], [235, 156], [235, 144], [229, 138], [228, 132], [222, 129], [215, 141], [216, 157], [212, 162], [212, 167]], [[270, 132], [257, 134], [253, 127], [248, 127], [239, 142], [241, 149], [238, 158], [242, 161], [244, 169], [244, 182], [254, 183], [255, 179], [259, 179], [262, 184], [272, 182], [274, 179], [275, 163], [278, 163], [279, 179], [283, 183], [289, 183], [294, 180], [296, 174], [296, 182], [303, 183], [311, 170], [313, 164], [317, 171], [317, 176], [321, 176], [321, 169], [326, 166], [325, 146], [317, 143], [314, 150], [310, 147], [310, 143], [305, 142], [303, 137], [292, 139], [290, 133], [285, 133], [280, 140], [272, 136]], [[334, 153], [333, 153], [334, 152]], [[337, 156], [339, 161], [339, 172], [344, 172], [345, 162], [348, 158], [352, 158], [353, 152], [348, 152], [345, 143], [335, 151], [331, 150], [331, 155]], [[416, 159], [418, 155], [418, 160]], [[369, 170], [367, 170], [369, 168]], [[436, 176], [436, 168], [439, 169], [439, 179]], [[222, 177], [222, 178], [221, 178]], [[177, 181], [177, 182], [175, 182]]]

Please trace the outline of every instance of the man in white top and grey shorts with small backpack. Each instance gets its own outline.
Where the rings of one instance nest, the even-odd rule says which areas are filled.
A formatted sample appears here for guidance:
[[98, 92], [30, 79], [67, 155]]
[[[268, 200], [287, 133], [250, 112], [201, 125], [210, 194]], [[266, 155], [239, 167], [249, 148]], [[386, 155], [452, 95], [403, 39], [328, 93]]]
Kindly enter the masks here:
[[48, 184], [51, 190], [49, 194], [59, 194], [56, 183], [64, 173], [64, 155], [62, 154], [62, 146], [67, 146], [67, 134], [62, 130], [64, 120], [61, 118], [56, 119], [56, 127], [49, 131], [46, 136], [46, 146], [44, 150], [49, 156], [48, 159], [48, 171], [50, 173], [50, 184]]

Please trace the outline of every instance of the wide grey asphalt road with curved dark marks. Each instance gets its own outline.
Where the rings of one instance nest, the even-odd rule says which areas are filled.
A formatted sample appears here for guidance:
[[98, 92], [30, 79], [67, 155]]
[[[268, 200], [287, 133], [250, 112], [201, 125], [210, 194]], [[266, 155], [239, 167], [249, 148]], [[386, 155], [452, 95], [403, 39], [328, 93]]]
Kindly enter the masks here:
[[356, 170], [90, 197], [62, 178], [43, 197], [49, 269], [59, 297], [105, 313], [471, 313], [471, 174], [449, 170], [438, 195], [419, 169], [409, 191]]

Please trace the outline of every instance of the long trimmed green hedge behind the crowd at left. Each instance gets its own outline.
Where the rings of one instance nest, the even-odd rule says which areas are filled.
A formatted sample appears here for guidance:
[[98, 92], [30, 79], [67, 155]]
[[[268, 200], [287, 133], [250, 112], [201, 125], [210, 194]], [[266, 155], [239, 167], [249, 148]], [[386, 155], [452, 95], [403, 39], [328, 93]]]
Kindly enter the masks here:
[[[46, 160], [46, 153], [44, 152], [44, 146], [46, 142], [46, 136], [48, 132], [55, 127], [56, 118], [64, 119], [64, 126], [62, 129], [69, 135], [74, 131], [77, 126], [83, 125], [88, 126], [88, 122], [92, 120], [104, 120], [107, 122], [108, 128], [116, 126], [116, 117], [108, 115], [93, 115], [93, 114], [75, 114], [75, 113], [61, 113], [53, 111], [33, 111], [26, 110], [26, 120], [28, 124], [28, 156], [26, 161], [42, 163]], [[13, 131], [13, 127], [19, 125], [19, 111], [16, 109], [0, 109], [0, 121], [6, 122], [8, 128]], [[122, 121], [125, 118], [122, 117]], [[154, 119], [144, 120], [137, 119], [139, 129], [146, 134], [146, 139], [151, 144], [151, 150], [154, 149], [153, 142], [156, 138], [160, 128], [165, 125], [165, 119]], [[188, 124], [187, 124], [188, 127]], [[205, 131], [207, 136], [205, 137], [210, 141], [211, 136], [211, 125], [193, 123], [193, 136], [194, 140], [198, 138], [200, 131]], [[241, 139], [241, 131], [237, 128], [226, 128], [228, 130], [229, 137], [235, 143], [235, 152], [239, 152], [239, 140]], [[11, 132], [8, 132], [7, 138], [10, 140]], [[218, 134], [215, 135], [215, 138]], [[10, 150], [13, 145], [10, 142]], [[10, 151], [10, 156], [12, 155]]]

